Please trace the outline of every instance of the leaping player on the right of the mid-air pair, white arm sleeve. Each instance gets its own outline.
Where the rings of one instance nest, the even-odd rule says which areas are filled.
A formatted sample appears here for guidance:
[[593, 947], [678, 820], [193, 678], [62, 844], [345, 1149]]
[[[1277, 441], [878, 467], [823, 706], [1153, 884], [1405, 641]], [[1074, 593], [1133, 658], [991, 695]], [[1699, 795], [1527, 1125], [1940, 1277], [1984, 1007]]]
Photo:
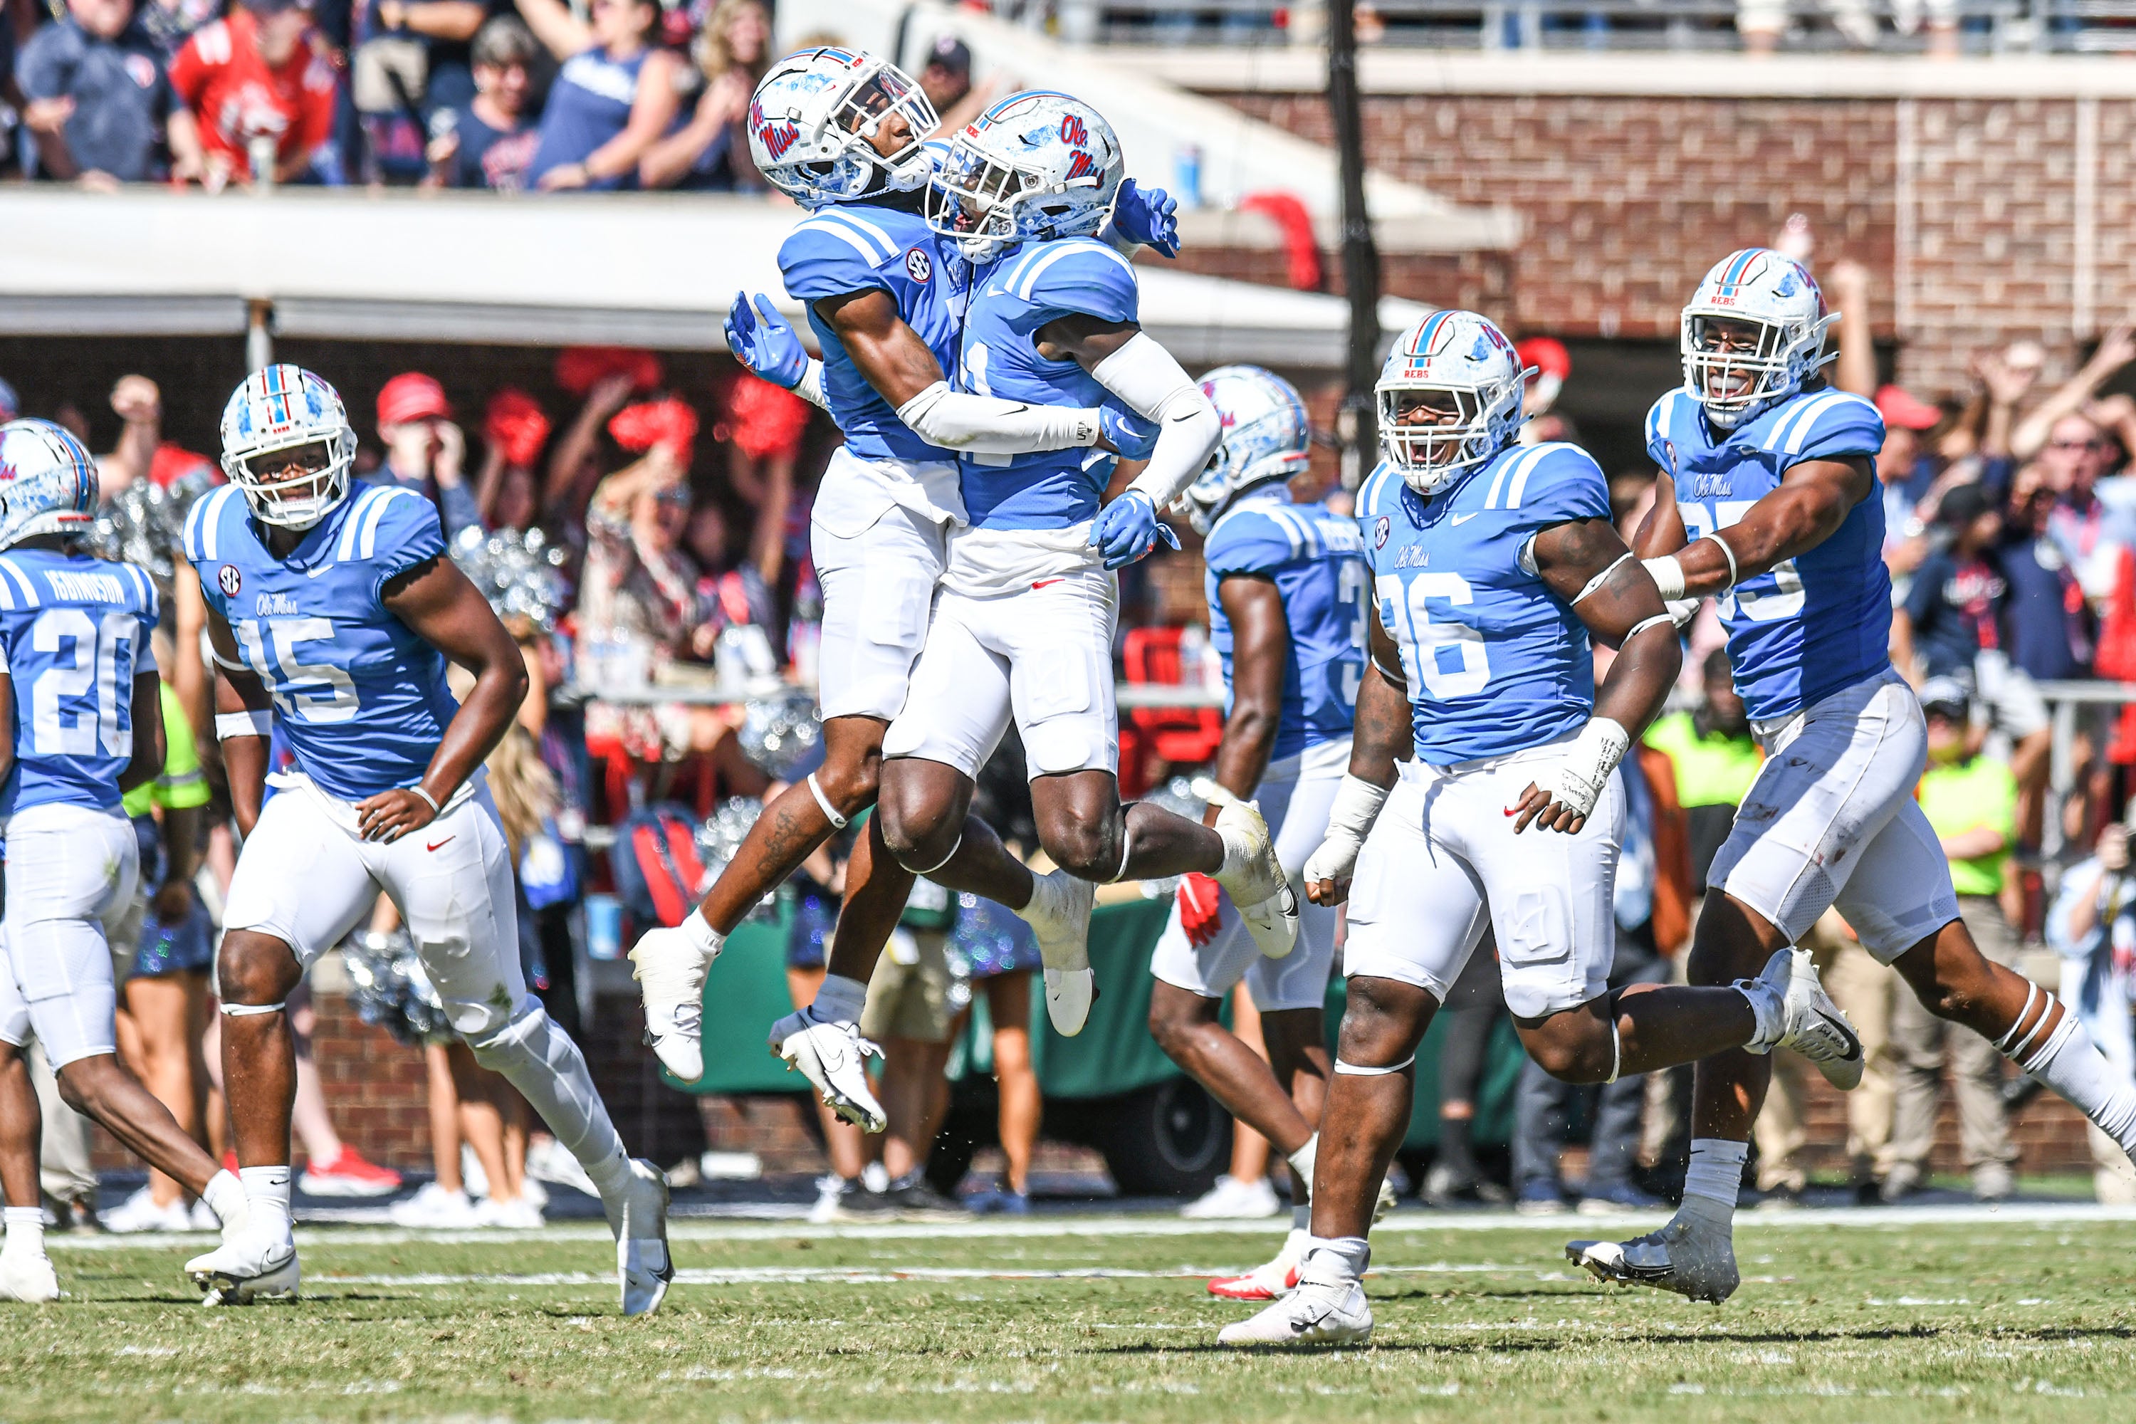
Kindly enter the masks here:
[[[1119, 188], [1119, 141], [1066, 94], [993, 105], [940, 164], [927, 218], [974, 263], [961, 382], [1008, 404], [1115, 397], [1158, 436], [1143, 474], [1104, 510], [1106, 450], [963, 455], [970, 527], [951, 542], [912, 694], [882, 739], [882, 807], [869, 830], [906, 869], [1032, 920], [1047, 1014], [1062, 1033], [1089, 1016], [1094, 882], [1200, 871], [1245, 907], [1262, 952], [1288, 954], [1297, 937], [1297, 897], [1250, 803], [1222, 805], [1213, 828], [1119, 805], [1111, 570], [1171, 536], [1158, 510], [1194, 482], [1222, 436], [1209, 397], [1136, 325], [1134, 265], [1098, 241]], [[1010, 717], [1038, 841], [1070, 875], [1032, 875], [965, 818]]]

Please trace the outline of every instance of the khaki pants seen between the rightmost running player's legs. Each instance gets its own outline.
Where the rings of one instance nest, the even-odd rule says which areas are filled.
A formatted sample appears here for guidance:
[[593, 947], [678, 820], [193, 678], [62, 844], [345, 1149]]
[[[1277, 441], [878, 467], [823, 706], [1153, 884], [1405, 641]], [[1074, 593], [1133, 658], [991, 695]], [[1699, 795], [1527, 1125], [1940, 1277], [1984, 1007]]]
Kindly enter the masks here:
[[[1846, 931], [1846, 922], [1835, 909], [1826, 909], [1811, 927], [1809, 935], [1803, 937], [1803, 948], [1816, 959], [1824, 991], [1854, 1023], [1854, 1033], [1863, 1040], [1863, 1082], [1848, 1093], [1848, 1164], [1854, 1183], [1867, 1183], [1871, 1174], [1882, 1174], [1888, 1168], [1890, 1155], [1892, 999], [1912, 995]], [[1758, 1140], [1760, 1191], [1801, 1191], [1809, 1185], [1801, 1151], [1809, 1142], [1803, 1099], [1813, 1072], [1809, 1061], [1794, 1053], [1773, 1055], [1773, 1089], [1764, 1095], [1764, 1112], [1758, 1114], [1752, 1132]]]

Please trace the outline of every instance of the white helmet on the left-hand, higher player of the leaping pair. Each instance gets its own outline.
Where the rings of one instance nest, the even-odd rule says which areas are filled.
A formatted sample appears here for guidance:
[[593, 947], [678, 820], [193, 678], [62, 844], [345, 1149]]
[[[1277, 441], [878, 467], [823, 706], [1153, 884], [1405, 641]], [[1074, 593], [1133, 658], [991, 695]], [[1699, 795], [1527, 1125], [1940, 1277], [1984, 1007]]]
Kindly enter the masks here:
[[[906, 141], [878, 154], [876, 130], [897, 115]], [[801, 49], [773, 64], [750, 100], [750, 156], [773, 188], [807, 209], [859, 203], [927, 184], [921, 143], [942, 120], [906, 70], [865, 49]]]

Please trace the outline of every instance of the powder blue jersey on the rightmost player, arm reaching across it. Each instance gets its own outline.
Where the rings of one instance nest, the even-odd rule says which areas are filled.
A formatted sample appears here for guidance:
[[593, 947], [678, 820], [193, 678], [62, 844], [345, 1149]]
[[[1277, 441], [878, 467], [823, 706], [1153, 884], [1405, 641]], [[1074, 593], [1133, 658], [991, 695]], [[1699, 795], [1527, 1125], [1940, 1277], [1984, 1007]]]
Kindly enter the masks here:
[[[1884, 446], [1884, 416], [1846, 391], [1790, 395], [1756, 421], [1715, 433], [1685, 391], [1647, 414], [1647, 453], [1677, 480], [1683, 532], [1705, 538], [1743, 519], [1807, 459]], [[1756, 719], [1792, 717], [1890, 666], [1890, 574], [1884, 502], [1869, 495], [1839, 529], [1719, 600], [1737, 692]]]

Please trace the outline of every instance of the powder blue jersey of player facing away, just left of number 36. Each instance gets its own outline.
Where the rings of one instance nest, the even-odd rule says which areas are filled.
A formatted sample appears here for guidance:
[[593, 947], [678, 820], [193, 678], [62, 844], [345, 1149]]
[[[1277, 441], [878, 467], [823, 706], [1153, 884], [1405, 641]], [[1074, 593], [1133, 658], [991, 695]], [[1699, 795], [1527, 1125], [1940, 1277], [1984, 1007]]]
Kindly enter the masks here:
[[1232, 638], [1218, 585], [1239, 574], [1269, 579], [1284, 600], [1290, 655], [1284, 719], [1269, 756], [1297, 756], [1350, 737], [1365, 670], [1365, 589], [1371, 585], [1356, 521], [1324, 504], [1292, 504], [1284, 482], [1271, 480], [1218, 515], [1203, 561], [1209, 566], [1209, 640], [1224, 658], [1226, 692]]

